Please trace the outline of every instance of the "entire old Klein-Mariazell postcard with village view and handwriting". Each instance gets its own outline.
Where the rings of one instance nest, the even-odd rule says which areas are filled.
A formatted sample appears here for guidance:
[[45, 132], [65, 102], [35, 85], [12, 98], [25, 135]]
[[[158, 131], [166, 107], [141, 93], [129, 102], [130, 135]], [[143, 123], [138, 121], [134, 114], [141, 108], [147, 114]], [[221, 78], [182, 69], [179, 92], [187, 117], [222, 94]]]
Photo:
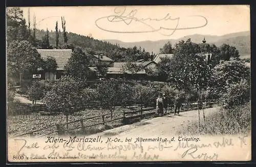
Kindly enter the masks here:
[[6, 8], [9, 162], [251, 160], [249, 5]]

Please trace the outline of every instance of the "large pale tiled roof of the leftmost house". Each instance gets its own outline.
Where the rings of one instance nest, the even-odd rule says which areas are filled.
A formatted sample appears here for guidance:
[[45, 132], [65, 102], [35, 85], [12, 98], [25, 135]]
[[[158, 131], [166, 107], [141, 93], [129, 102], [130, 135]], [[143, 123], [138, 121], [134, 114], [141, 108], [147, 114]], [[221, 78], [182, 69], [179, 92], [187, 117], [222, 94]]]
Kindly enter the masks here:
[[72, 49], [37, 49], [43, 60], [52, 57], [56, 60], [57, 70], [65, 70], [65, 66], [72, 55]]

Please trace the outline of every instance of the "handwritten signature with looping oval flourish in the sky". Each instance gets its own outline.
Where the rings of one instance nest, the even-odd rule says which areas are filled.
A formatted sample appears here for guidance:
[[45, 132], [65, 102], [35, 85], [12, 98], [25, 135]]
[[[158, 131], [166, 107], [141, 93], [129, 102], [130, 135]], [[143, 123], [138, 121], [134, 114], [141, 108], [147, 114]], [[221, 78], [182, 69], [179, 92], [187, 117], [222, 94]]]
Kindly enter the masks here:
[[[98, 19], [95, 20], [95, 24], [96, 26], [106, 32], [111, 32], [111, 33], [152, 33], [152, 32], [158, 32], [164, 36], [171, 36], [173, 35], [177, 30], [188, 30], [188, 29], [198, 29], [200, 27], [204, 27], [207, 25], [208, 20], [204, 17], [204, 16], [200, 16], [200, 15], [191, 15], [188, 17], [197, 17], [197, 18], [203, 18], [204, 19], [204, 23], [202, 25], [199, 26], [187, 26], [187, 27], [178, 27], [179, 23], [180, 23], [180, 17], [172, 17], [169, 13], [167, 13], [166, 15], [164, 15], [161, 18], [151, 18], [151, 17], [147, 17], [147, 18], [138, 18], [136, 17], [136, 14], [138, 13], [138, 9], [133, 9], [130, 12], [126, 12], [126, 8], [125, 7], [117, 7], [114, 9], [114, 13], [113, 15], [110, 16], [105, 16], [105, 17], [100, 17]], [[147, 29], [144, 30], [138, 30], [138, 31], [118, 31], [118, 30], [110, 30], [107, 28], [103, 28], [101, 25], [99, 25], [99, 21], [109, 21], [109, 22], [123, 22], [124, 25], [132, 25], [132, 23], [140, 23], [146, 26]], [[160, 24], [159, 28], [155, 28], [153, 27], [152, 23], [157, 21]], [[161, 23], [163, 23], [163, 21], [172, 21], [172, 22], [176, 22], [174, 24], [174, 27], [165, 27], [165, 26], [161, 26]], [[105, 23], [105, 22], [104, 22]], [[169, 22], [170, 23], [170, 22]], [[168, 23], [168, 26], [170, 26]], [[133, 24], [135, 25], [135, 24]], [[111, 29], [116, 29], [117, 26], [112, 26]], [[170, 31], [170, 33], [162, 33], [159, 32], [160, 30], [167, 30]]]

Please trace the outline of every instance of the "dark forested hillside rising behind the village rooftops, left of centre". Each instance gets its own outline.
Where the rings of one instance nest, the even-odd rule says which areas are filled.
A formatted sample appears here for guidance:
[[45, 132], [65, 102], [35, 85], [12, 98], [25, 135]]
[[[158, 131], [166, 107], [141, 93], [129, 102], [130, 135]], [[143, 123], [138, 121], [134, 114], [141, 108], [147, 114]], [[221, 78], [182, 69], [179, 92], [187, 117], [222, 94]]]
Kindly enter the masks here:
[[[49, 32], [50, 45], [55, 45], [55, 33], [54, 31]], [[36, 30], [36, 38], [42, 40], [42, 37], [46, 35], [44, 30]], [[143, 48], [132, 46], [132, 47], [120, 47], [118, 44], [111, 44], [110, 42], [103, 42], [88, 36], [82, 36], [75, 33], [67, 33], [68, 44], [73, 46], [80, 46], [90, 54], [104, 54], [113, 59], [115, 62], [136, 62], [138, 60], [150, 60], [151, 54], [146, 52]], [[59, 32], [59, 48], [65, 48], [63, 33]]]

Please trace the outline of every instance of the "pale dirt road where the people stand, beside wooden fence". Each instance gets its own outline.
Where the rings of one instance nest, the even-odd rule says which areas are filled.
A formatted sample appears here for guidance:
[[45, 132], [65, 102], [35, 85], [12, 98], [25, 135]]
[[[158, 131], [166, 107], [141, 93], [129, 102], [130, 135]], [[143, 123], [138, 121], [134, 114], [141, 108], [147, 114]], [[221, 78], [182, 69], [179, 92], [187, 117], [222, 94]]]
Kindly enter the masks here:
[[[217, 112], [218, 108], [204, 109], [205, 116]], [[200, 119], [203, 121], [203, 111], [200, 110]], [[164, 134], [175, 134], [178, 130], [186, 127], [190, 122], [198, 121], [198, 110], [190, 110], [180, 113], [180, 116], [174, 114], [153, 119], [145, 119], [140, 122], [124, 125], [117, 128], [105, 130], [97, 133], [101, 136], [153, 136]], [[94, 134], [95, 135], [95, 134]]]

